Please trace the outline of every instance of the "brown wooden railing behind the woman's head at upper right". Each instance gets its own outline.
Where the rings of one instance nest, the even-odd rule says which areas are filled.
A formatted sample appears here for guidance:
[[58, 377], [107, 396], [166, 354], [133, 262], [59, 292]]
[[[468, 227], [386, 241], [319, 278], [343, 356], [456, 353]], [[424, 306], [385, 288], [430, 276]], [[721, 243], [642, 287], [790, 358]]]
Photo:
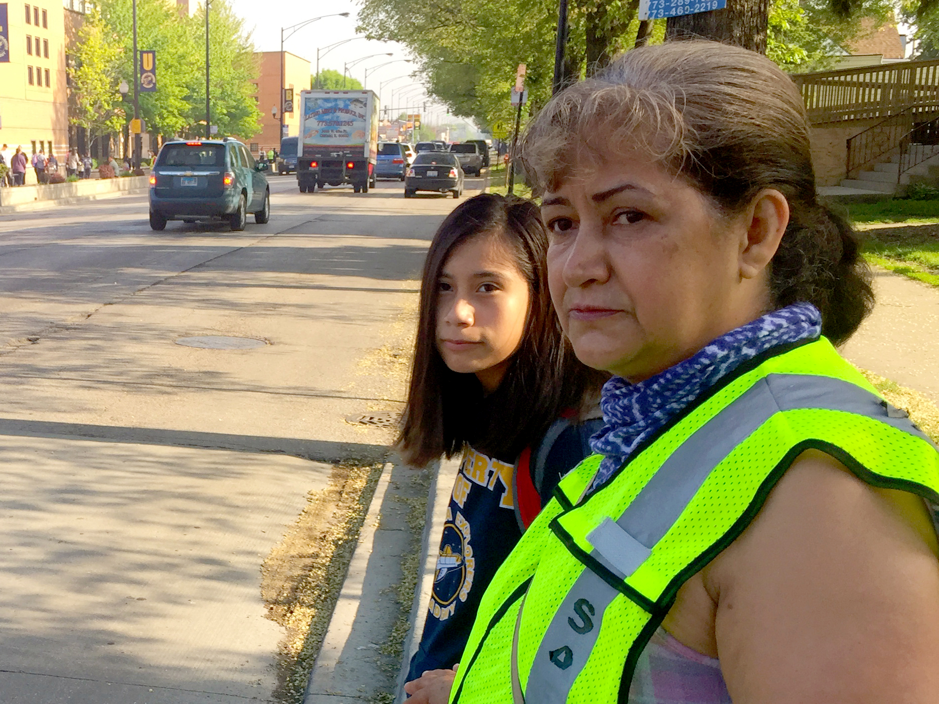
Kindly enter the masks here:
[[939, 114], [939, 59], [797, 73], [812, 125], [884, 119], [911, 108]]

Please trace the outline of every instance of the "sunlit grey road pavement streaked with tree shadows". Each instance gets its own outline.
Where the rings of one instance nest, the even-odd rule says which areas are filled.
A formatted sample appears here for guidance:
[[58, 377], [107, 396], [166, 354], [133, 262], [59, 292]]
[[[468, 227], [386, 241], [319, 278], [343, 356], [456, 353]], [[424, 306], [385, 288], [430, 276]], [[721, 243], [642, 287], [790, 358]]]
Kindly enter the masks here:
[[[241, 233], [152, 232], [143, 196], [0, 217], [0, 701], [269, 699], [260, 564], [331, 463], [384, 455], [344, 419], [401, 407], [456, 205], [270, 182]], [[177, 344], [205, 335], [264, 344]]]

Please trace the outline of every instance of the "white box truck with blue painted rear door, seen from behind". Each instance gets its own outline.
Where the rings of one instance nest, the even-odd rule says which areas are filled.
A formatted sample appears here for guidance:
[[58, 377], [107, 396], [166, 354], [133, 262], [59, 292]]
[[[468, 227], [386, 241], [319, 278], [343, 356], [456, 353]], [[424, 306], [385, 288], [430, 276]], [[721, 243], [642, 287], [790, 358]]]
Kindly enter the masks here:
[[375, 186], [378, 97], [371, 90], [301, 90], [297, 183], [300, 192], [325, 184]]

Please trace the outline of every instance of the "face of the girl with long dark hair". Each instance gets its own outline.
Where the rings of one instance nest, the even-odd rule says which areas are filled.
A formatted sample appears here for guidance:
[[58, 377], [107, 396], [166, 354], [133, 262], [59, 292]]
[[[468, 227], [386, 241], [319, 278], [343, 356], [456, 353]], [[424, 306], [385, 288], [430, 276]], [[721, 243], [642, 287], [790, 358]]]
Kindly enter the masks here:
[[437, 348], [454, 372], [499, 387], [525, 335], [531, 292], [499, 235], [457, 245], [437, 283]]

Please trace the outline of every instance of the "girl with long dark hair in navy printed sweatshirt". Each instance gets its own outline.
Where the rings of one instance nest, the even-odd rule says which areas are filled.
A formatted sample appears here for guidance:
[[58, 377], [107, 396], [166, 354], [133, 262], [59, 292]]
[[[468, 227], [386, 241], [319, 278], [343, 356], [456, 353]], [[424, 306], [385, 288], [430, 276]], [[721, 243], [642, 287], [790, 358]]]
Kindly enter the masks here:
[[427, 253], [398, 446], [413, 467], [463, 460], [408, 680], [459, 660], [492, 575], [601, 425], [581, 419], [606, 375], [562, 339], [546, 249], [537, 207], [488, 193], [456, 207]]

